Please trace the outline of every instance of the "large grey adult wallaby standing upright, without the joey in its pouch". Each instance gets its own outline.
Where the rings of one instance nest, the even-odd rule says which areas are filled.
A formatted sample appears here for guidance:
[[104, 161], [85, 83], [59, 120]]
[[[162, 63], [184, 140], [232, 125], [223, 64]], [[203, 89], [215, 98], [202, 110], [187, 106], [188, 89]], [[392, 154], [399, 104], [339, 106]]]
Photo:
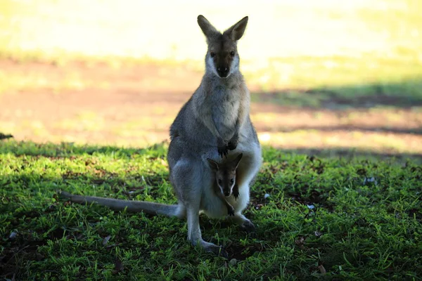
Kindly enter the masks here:
[[[237, 41], [243, 36], [247, 23], [248, 17], [245, 17], [220, 33], [203, 15], [198, 16], [198, 25], [208, 46], [205, 74], [170, 127], [167, 152], [177, 205], [63, 195], [73, 202], [98, 202], [112, 209], [186, 217], [188, 240], [205, 251], [224, 256], [226, 252], [221, 247], [203, 240], [200, 213], [210, 218], [226, 217], [244, 230], [255, 230], [253, 223], [242, 214], [249, 202], [250, 183], [262, 164], [260, 142], [249, 116], [250, 93], [239, 70]], [[232, 161], [235, 156], [229, 150], [233, 150], [234, 155], [243, 154], [236, 170], [239, 198], [226, 198], [234, 208], [234, 216], [226, 216], [224, 202], [212, 188], [214, 175], [207, 160], [218, 161], [225, 155], [227, 161]]]

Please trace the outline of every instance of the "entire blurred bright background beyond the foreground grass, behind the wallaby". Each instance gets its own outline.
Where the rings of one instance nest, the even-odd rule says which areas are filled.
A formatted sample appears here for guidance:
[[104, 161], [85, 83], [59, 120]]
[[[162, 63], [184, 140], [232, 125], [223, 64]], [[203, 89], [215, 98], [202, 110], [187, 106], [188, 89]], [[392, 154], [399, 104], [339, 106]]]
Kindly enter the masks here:
[[0, 1], [0, 133], [165, 141], [200, 83], [199, 14], [238, 43], [263, 145], [422, 155], [419, 0]]

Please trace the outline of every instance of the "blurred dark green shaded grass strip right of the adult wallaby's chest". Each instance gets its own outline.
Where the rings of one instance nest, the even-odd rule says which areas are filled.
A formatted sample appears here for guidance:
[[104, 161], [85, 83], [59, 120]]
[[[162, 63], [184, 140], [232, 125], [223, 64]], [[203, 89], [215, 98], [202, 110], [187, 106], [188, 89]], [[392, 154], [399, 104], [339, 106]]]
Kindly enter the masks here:
[[314, 89], [280, 89], [252, 93], [252, 101], [328, 110], [371, 107], [410, 109], [422, 106], [422, 80], [326, 86]]

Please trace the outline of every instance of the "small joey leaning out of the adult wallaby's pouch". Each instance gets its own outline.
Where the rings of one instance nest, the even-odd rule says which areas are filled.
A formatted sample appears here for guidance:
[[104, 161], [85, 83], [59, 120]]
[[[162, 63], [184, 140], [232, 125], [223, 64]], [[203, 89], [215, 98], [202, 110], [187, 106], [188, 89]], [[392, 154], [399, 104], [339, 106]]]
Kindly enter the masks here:
[[207, 159], [212, 171], [215, 172], [215, 182], [213, 188], [215, 194], [226, 205], [229, 216], [234, 216], [234, 207], [226, 200], [233, 194], [234, 199], [239, 197], [238, 185], [236, 184], [236, 169], [242, 159], [243, 154], [239, 154], [233, 161], [217, 163], [212, 159]]

